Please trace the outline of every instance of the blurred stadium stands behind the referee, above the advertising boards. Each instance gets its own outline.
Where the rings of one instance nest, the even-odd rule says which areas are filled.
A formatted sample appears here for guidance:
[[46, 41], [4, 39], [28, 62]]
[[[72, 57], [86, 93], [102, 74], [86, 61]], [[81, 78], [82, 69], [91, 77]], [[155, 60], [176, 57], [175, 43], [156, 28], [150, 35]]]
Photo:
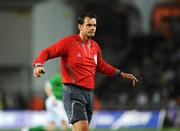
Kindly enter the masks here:
[[103, 58], [139, 79], [96, 76], [98, 110], [165, 110], [164, 126], [180, 126], [179, 0], [0, 0], [0, 109], [44, 110], [44, 82], [61, 72], [59, 58], [33, 77], [33, 59], [78, 33], [77, 16], [97, 15]]

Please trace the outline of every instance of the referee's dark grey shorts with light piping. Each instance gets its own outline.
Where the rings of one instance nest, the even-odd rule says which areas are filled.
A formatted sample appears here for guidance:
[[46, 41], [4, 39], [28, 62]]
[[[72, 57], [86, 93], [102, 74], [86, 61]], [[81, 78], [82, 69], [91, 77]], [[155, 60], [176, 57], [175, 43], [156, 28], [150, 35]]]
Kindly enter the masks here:
[[62, 94], [69, 123], [74, 124], [79, 120], [88, 120], [90, 124], [94, 109], [93, 90], [64, 84]]

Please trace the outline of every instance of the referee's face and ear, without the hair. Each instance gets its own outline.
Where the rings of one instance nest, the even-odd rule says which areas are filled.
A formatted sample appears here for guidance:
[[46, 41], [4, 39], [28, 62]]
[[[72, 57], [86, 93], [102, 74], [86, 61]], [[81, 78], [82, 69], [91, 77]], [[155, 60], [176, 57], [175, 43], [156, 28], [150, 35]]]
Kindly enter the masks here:
[[96, 19], [85, 17], [84, 23], [79, 24], [79, 30], [84, 37], [93, 37], [96, 32]]

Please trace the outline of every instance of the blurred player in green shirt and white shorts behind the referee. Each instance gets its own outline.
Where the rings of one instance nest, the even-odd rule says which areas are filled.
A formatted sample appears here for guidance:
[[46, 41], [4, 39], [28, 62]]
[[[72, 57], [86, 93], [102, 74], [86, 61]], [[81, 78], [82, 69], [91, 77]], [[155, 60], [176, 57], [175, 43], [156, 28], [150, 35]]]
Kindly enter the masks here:
[[47, 111], [47, 126], [39, 125], [22, 131], [55, 131], [56, 128], [66, 131], [68, 120], [62, 102], [62, 80], [60, 74], [56, 74], [50, 81], [45, 82], [45, 101]]

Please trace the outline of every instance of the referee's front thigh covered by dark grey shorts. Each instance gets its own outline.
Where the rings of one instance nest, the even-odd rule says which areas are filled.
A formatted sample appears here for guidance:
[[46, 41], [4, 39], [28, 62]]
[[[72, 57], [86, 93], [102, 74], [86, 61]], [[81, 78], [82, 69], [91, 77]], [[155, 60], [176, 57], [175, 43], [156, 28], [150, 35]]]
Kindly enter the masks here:
[[70, 124], [88, 120], [85, 98], [81, 90], [71, 85], [63, 86], [63, 102]]

